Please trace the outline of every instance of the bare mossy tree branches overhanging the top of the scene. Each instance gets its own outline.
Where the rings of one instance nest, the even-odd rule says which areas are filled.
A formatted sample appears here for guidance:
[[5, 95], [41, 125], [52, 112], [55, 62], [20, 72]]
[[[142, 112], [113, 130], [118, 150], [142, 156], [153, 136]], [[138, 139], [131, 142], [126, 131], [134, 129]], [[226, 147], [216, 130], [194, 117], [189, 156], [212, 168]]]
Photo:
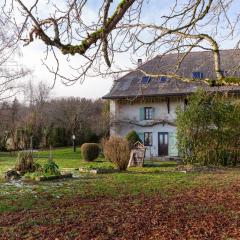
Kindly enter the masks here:
[[[182, 79], [177, 69], [195, 48], [212, 51], [216, 83], [231, 84], [225, 81], [219, 49], [224, 39], [232, 39], [239, 48], [240, 14], [233, 11], [239, 9], [238, 0], [170, 0], [168, 9], [161, 1], [151, 0], [96, 2], [93, 21], [87, 15], [91, 7], [88, 0], [49, 0], [48, 13], [45, 12], [47, 3], [39, 0], [13, 0], [10, 4], [5, 2], [3, 9], [19, 15], [21, 20], [15, 23], [21, 23], [19, 34], [25, 45], [40, 39], [47, 46], [47, 52], [53, 54], [57, 63], [55, 69], [46, 65], [48, 70], [66, 84], [83, 81], [88, 75], [121, 72], [123, 69], [114, 60], [123, 52], [145, 54], [148, 58], [177, 52], [175, 71], [162, 75]], [[146, 15], [151, 14], [146, 14], [147, 8], [159, 9], [154, 21], [147, 20]], [[81, 56], [72, 65], [76, 75], [62, 74], [59, 54]]]

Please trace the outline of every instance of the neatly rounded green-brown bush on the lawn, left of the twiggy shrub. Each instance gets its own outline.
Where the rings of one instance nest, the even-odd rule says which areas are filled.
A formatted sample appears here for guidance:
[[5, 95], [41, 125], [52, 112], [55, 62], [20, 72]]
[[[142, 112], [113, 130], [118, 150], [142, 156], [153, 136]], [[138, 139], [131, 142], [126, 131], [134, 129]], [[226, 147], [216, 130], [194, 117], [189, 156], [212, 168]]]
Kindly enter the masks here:
[[81, 147], [82, 157], [85, 161], [93, 161], [98, 158], [100, 148], [97, 143], [84, 143]]

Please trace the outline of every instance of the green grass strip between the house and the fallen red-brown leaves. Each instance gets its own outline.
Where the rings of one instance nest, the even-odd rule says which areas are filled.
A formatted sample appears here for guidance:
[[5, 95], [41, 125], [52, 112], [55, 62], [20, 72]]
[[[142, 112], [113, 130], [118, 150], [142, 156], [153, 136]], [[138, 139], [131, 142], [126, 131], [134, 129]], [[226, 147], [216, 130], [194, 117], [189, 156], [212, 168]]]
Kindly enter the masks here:
[[[35, 153], [40, 163], [47, 161], [49, 151]], [[71, 148], [53, 150], [54, 161], [60, 170], [77, 169], [79, 167], [112, 167], [112, 163], [104, 158], [94, 162], [81, 159], [80, 149], [74, 153]], [[16, 156], [0, 153], [0, 173], [14, 166]], [[127, 172], [109, 174], [80, 174], [78, 179], [53, 181], [45, 183], [24, 183], [23, 185], [0, 184], [0, 212], [16, 211], [48, 205], [46, 200], [57, 200], [71, 196], [81, 197], [122, 197], [141, 194], [169, 196], [184, 189], [211, 185], [212, 187], [227, 186], [239, 179], [238, 171], [218, 173], [181, 173], [170, 172], [176, 166], [175, 162], [147, 162], [143, 168], [130, 168]], [[75, 171], [78, 173], [78, 171]]]

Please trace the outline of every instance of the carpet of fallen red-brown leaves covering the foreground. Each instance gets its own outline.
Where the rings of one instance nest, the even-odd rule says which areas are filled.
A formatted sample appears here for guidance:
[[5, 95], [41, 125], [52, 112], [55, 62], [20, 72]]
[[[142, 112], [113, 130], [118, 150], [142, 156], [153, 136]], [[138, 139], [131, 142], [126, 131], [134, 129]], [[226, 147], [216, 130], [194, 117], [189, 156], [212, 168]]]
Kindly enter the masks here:
[[0, 216], [0, 239], [240, 239], [240, 184], [168, 198], [63, 198]]

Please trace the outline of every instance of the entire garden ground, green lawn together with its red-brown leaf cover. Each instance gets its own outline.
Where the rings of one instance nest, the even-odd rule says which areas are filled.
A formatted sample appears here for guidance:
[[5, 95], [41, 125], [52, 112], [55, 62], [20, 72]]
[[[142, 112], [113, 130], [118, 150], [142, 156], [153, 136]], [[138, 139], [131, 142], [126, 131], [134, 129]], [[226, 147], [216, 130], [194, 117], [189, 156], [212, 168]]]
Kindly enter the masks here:
[[[39, 162], [46, 161], [48, 156], [48, 151], [35, 153]], [[147, 239], [144, 236], [150, 234], [145, 232], [149, 229], [153, 231], [151, 236], [162, 235], [160, 232], [168, 229], [164, 230], [168, 234], [166, 238], [152, 239], [179, 239], [178, 234], [185, 236], [182, 239], [207, 239], [201, 224], [208, 222], [208, 216], [213, 219], [212, 225], [205, 228], [211, 227], [208, 231], [215, 234], [209, 239], [238, 237], [228, 233], [228, 229], [237, 228], [236, 221], [240, 217], [237, 214], [240, 206], [238, 168], [209, 173], [172, 172], [176, 163], [156, 161], [126, 172], [89, 174], [74, 169], [113, 165], [103, 158], [92, 163], [84, 162], [80, 149], [76, 153], [71, 148], [56, 149], [52, 156], [61, 170], [72, 170], [77, 178], [38, 183], [7, 183], [2, 180], [1, 239], [74, 239], [82, 236], [81, 231], [84, 237], [78, 239], [115, 239], [112, 236], [136, 239], [136, 231], [142, 234], [142, 239]], [[0, 172], [13, 167], [15, 158], [9, 153], [0, 153]], [[230, 203], [234, 204], [229, 206]], [[221, 223], [223, 216], [229, 219], [227, 224], [225, 222], [225, 235], [218, 232], [218, 222]], [[145, 225], [148, 217], [155, 219], [153, 222], [157, 225]], [[163, 217], [173, 220], [168, 222]], [[181, 218], [184, 218], [181, 222], [187, 219], [185, 225], [180, 224]], [[19, 219], [17, 223], [16, 219]], [[142, 222], [134, 225], [134, 219]], [[122, 223], [118, 224], [118, 221]], [[132, 228], [129, 230], [128, 226]], [[138, 230], [134, 230], [134, 226]], [[177, 229], [174, 226], [178, 226]], [[190, 226], [192, 229], [186, 231]], [[121, 230], [125, 227], [128, 230]]]

